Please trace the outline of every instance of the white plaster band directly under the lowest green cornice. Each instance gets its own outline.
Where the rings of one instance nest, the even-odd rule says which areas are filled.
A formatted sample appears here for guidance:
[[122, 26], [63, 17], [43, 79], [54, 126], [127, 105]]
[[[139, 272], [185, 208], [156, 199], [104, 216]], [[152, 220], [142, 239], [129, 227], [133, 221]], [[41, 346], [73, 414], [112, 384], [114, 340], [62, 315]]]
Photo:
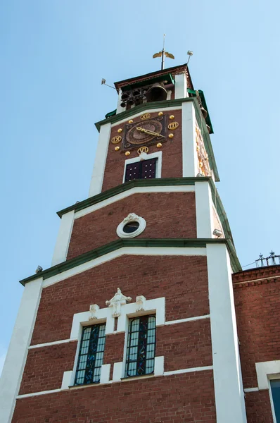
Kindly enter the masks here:
[[[99, 266], [100, 264], [109, 262], [110, 260], [116, 259], [117, 257], [122, 257], [122, 255], [161, 255], [161, 256], [193, 256], [193, 255], [206, 255], [205, 247], [122, 247], [118, 250], [109, 252], [106, 255], [97, 257], [96, 259], [90, 260], [89, 262], [80, 264], [72, 269], [65, 270], [60, 274], [51, 276], [51, 278], [45, 279], [43, 282], [43, 288], [53, 285], [53, 283], [58, 283], [63, 281], [66, 278], [75, 276], [84, 271]], [[89, 317], [87, 317], [88, 319]]]

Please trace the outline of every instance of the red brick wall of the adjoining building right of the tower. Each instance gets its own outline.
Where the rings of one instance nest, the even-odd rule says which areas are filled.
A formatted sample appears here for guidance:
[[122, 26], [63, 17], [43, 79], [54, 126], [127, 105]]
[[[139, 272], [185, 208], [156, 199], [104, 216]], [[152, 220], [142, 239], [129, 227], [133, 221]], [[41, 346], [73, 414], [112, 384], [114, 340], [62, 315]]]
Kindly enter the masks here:
[[[279, 269], [274, 270], [279, 275]], [[267, 275], [256, 271], [234, 275], [234, 299], [244, 388], [257, 386], [256, 362], [280, 360], [280, 277], [235, 285], [244, 279], [250, 281], [265, 276]]]

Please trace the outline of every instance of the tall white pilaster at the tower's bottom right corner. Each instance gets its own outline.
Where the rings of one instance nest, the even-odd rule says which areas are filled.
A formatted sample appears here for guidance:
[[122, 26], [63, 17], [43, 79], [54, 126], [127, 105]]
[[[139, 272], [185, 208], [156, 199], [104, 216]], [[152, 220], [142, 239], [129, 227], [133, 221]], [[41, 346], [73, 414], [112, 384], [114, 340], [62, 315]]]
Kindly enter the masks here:
[[229, 254], [224, 244], [206, 250], [217, 423], [245, 423]]

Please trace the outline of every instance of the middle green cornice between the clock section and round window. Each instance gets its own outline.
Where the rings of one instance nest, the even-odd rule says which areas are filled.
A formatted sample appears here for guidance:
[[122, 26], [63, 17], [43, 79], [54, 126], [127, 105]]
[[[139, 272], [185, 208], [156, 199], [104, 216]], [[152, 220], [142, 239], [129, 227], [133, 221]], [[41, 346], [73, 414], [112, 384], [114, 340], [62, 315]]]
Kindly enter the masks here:
[[110, 197], [114, 197], [120, 192], [125, 192], [127, 190], [131, 190], [135, 187], [166, 187], [172, 185], [194, 185], [196, 180], [209, 180], [209, 177], [205, 178], [155, 178], [155, 179], [134, 179], [129, 180], [129, 182], [122, 183], [121, 185], [117, 185], [116, 187], [110, 188], [110, 190], [106, 190], [101, 192], [100, 194], [94, 195], [94, 197], [89, 197], [87, 200], [83, 200], [78, 202], [77, 204], [73, 204], [66, 209], [63, 209], [57, 212], [58, 216], [61, 217], [63, 214], [72, 212], [78, 212], [79, 210], [86, 209], [93, 204], [97, 204], [98, 202], [107, 200]]

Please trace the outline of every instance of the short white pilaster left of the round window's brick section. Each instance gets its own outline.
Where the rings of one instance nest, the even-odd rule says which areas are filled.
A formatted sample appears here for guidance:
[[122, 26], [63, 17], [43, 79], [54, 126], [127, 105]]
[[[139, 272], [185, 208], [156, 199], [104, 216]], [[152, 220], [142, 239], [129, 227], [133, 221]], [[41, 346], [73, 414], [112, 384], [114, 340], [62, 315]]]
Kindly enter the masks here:
[[72, 210], [72, 212], [63, 214], [61, 218], [61, 226], [58, 230], [58, 238], [56, 239], [51, 266], [56, 266], [56, 264], [65, 262], [66, 260], [74, 223], [74, 214], [75, 212]]

